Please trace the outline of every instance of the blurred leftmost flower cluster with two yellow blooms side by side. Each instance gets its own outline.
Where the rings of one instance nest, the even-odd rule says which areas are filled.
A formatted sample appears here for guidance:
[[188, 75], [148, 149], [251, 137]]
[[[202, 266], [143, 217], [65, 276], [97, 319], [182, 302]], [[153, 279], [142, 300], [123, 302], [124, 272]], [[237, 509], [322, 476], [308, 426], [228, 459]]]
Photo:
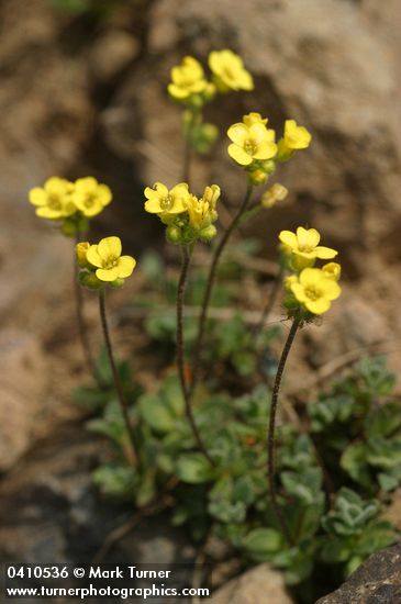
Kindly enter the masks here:
[[31, 189], [29, 200], [36, 208], [37, 216], [58, 221], [65, 235], [75, 235], [87, 231], [88, 219], [109, 205], [112, 193], [93, 177], [70, 182], [54, 176], [43, 187]]

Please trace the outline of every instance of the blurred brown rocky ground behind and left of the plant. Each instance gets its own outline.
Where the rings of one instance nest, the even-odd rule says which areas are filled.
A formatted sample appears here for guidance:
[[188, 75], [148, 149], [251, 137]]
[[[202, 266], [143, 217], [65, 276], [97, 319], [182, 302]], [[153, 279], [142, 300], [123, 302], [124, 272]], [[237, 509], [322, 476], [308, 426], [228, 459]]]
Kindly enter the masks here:
[[[183, 54], [204, 59], [210, 49], [232, 47], [255, 75], [254, 92], [210, 108], [223, 132], [253, 110], [274, 127], [293, 116], [313, 132], [310, 152], [278, 175], [292, 203], [249, 226], [266, 242], [269, 259], [277, 232], [298, 224], [321, 230], [342, 254], [343, 303], [304, 335], [293, 361], [298, 378], [366, 347], [388, 353], [400, 371], [397, 8], [397, 0], [380, 10], [374, 0], [186, 0], [182, 10], [180, 0], [133, 0], [97, 20], [63, 13], [47, 0], [0, 0], [3, 558], [90, 557], [129, 514], [99, 502], [90, 484], [102, 446], [83, 433], [82, 412], [69, 398], [85, 379], [70, 297], [71, 243], [34, 216], [26, 191], [49, 175], [92, 174], [115, 199], [96, 235], [119, 233], [135, 256], [160, 247], [161, 233], [143, 214], [142, 191], [155, 180], [180, 179], [179, 110], [165, 88]], [[225, 146], [223, 136], [211, 160], [197, 161], [193, 182], [199, 189], [220, 183], [235, 204], [242, 175]], [[135, 284], [118, 292], [115, 307], [130, 304], [134, 293]], [[96, 344], [97, 309], [89, 299], [86, 312]], [[116, 332], [122, 346], [125, 335]], [[143, 547], [149, 543], [158, 551], [152, 523], [144, 530], [149, 538], [142, 535]], [[172, 559], [171, 544], [182, 536], [167, 532], [164, 538]], [[124, 557], [126, 547], [135, 544], [122, 543], [112, 556]]]

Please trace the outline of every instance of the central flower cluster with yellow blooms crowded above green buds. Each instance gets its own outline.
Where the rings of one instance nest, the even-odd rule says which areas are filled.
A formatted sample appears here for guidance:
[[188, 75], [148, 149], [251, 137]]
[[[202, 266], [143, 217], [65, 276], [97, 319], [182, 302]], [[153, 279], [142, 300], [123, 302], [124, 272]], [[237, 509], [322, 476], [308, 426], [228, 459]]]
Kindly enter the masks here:
[[175, 244], [190, 244], [197, 239], [211, 241], [216, 228], [216, 204], [220, 198], [220, 187], [205, 187], [203, 195], [197, 198], [189, 191], [186, 182], [168, 189], [161, 182], [145, 189], [145, 210], [157, 214], [167, 225], [166, 237]]

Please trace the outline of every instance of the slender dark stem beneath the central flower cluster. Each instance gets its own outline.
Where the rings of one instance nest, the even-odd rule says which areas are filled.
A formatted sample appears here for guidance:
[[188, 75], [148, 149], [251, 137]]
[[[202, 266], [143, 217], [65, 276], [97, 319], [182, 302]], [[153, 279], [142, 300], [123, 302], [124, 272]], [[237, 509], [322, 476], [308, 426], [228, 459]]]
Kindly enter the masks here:
[[202, 452], [202, 455], [208, 459], [208, 461], [214, 466], [213, 459], [210, 457], [208, 449], [205, 448], [202, 438], [199, 434], [193, 413], [192, 407], [190, 403], [190, 396], [188, 392], [187, 387], [187, 380], [186, 380], [186, 371], [185, 371], [185, 361], [183, 361], [183, 322], [182, 322], [182, 314], [183, 314], [183, 299], [185, 299], [185, 292], [186, 292], [186, 284], [188, 279], [188, 271], [189, 271], [189, 265], [191, 261], [191, 251], [188, 247], [182, 246], [182, 266], [181, 266], [181, 273], [178, 281], [178, 290], [177, 290], [177, 365], [178, 365], [178, 373], [182, 390], [182, 396], [186, 405], [186, 414], [189, 422], [189, 425], [191, 427], [193, 438]]

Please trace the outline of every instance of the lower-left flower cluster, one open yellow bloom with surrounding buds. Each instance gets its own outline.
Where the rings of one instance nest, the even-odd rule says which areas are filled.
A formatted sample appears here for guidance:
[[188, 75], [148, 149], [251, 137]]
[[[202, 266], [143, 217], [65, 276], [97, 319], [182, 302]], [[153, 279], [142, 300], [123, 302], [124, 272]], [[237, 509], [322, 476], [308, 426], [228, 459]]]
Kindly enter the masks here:
[[132, 256], [121, 256], [120, 237], [105, 237], [97, 245], [81, 242], [76, 246], [77, 262], [81, 269], [78, 279], [81, 286], [91, 290], [101, 289], [104, 283], [121, 288], [136, 266]]

